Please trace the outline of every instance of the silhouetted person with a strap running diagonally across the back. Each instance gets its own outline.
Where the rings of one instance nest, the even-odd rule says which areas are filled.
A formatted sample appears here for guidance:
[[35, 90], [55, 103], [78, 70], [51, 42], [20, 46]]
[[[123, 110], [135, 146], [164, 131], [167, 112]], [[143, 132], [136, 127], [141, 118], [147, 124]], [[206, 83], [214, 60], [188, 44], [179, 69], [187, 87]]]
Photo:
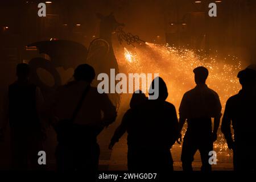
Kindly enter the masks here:
[[[72, 117], [82, 93], [92, 83], [95, 72], [90, 65], [81, 64], [75, 69], [73, 77], [74, 81], [60, 86], [56, 91], [51, 106], [53, 126]], [[98, 93], [97, 88], [90, 86], [73, 121], [69, 142], [58, 138], [57, 169], [96, 172], [100, 155], [97, 135], [114, 122], [116, 116], [115, 107], [108, 96]]]

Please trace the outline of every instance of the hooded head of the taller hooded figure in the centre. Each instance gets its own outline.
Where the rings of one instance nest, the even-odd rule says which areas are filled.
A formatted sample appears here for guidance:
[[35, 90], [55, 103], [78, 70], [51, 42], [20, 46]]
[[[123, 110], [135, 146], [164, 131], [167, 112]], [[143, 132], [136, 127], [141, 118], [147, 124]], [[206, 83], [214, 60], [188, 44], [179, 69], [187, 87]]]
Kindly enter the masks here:
[[152, 100], [158, 99], [165, 101], [168, 97], [168, 90], [166, 83], [161, 77], [155, 77], [151, 82], [150, 90], [148, 92], [149, 98]]

